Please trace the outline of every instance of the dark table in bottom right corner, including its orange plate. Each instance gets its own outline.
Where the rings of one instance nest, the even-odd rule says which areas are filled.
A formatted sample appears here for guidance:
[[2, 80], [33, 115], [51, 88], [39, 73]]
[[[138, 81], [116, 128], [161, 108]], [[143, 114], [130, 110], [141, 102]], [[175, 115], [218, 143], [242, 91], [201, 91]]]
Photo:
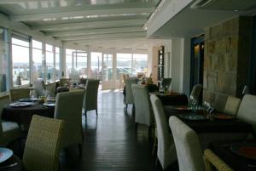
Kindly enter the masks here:
[[256, 170], [256, 140], [218, 140], [209, 146], [234, 171]]

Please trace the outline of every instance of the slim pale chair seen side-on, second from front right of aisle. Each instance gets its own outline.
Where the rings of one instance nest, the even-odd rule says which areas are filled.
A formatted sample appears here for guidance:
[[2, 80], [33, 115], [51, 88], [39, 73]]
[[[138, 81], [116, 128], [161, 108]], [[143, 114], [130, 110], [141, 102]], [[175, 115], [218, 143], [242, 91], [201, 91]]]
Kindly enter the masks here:
[[150, 100], [153, 106], [157, 130], [157, 157], [160, 161], [161, 167], [166, 169], [172, 163], [177, 161], [176, 148], [172, 134], [168, 128], [164, 107], [160, 99], [156, 95], [152, 94], [150, 95]]

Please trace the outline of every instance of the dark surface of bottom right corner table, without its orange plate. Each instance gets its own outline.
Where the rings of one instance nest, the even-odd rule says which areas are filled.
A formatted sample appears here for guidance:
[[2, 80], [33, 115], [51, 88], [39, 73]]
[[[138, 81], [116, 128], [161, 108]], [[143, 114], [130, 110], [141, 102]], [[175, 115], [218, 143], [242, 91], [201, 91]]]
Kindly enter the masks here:
[[209, 148], [235, 171], [255, 171], [256, 160], [240, 156], [231, 150], [232, 145], [243, 145], [245, 142], [256, 145], [256, 140], [221, 140], [211, 142]]

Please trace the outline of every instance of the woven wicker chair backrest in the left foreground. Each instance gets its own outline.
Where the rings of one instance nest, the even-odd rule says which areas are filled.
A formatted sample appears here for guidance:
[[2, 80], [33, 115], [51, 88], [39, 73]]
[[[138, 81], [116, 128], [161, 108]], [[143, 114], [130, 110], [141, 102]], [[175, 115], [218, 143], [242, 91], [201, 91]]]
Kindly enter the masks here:
[[22, 159], [27, 171], [59, 171], [63, 124], [62, 120], [33, 115]]

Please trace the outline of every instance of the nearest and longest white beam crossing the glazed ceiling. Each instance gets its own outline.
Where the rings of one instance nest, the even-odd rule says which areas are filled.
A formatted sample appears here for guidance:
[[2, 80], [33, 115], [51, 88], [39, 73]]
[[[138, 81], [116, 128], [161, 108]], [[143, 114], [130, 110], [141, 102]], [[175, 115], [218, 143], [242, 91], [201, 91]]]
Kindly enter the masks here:
[[[105, 14], [150, 14], [154, 8], [131, 8], [131, 9], [96, 9], [96, 10], [79, 10], [79, 11], [65, 11], [59, 13], [44, 13], [44, 14], [20, 14], [11, 15], [10, 19], [14, 21], [30, 21], [30, 20], [44, 20], [55, 19], [62, 17], [78, 17], [91, 15], [105, 15]], [[100, 16], [99, 16], [100, 17]]]

